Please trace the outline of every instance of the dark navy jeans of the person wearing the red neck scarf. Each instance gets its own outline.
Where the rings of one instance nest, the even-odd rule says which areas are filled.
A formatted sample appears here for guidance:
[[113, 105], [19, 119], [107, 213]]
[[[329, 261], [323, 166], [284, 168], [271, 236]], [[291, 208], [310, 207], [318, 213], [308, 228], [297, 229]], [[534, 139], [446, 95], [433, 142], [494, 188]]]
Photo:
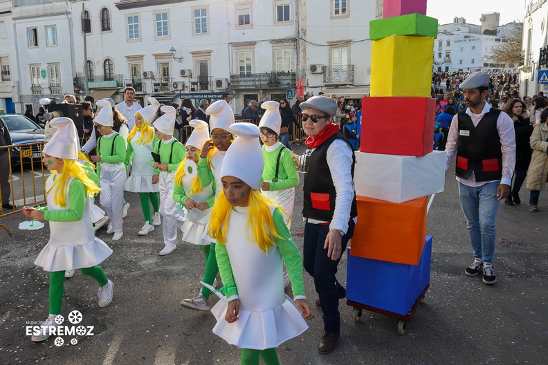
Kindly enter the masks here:
[[[302, 264], [304, 270], [314, 278], [316, 292], [320, 296], [322, 305], [322, 318], [324, 330], [327, 333], [340, 332], [340, 313], [338, 311], [338, 293], [344, 290], [335, 274], [340, 258], [336, 261], [327, 257], [327, 249], [324, 248], [325, 237], [329, 233], [329, 225], [306, 223], [304, 225], [304, 247], [302, 251]], [[347, 233], [343, 236], [340, 252], [345, 254], [347, 243], [354, 235], [354, 221], [350, 221]]]

